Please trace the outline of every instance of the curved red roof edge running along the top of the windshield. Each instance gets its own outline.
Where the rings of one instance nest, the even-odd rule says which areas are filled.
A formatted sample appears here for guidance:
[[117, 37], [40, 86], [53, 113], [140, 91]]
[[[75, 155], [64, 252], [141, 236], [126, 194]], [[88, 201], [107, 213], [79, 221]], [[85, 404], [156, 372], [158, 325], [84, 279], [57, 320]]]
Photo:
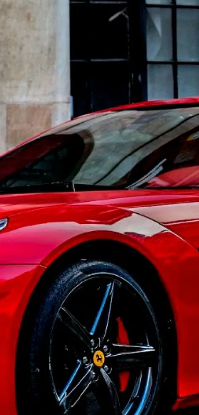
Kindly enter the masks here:
[[[113, 111], [124, 111], [124, 110], [150, 110], [153, 108], [157, 109], [175, 109], [175, 108], [183, 108], [183, 107], [194, 107], [199, 106], [199, 97], [188, 97], [188, 98], [174, 98], [171, 100], [149, 100], [149, 101], [142, 101], [139, 103], [133, 103], [133, 104], [127, 104], [127, 105], [120, 105], [113, 108], [108, 109], [102, 109], [100, 111], [95, 111], [90, 114], [80, 115], [79, 117], [73, 118], [72, 120], [85, 120], [86, 117], [89, 117], [92, 115], [93, 117], [97, 117], [100, 114], [109, 113]], [[37, 138], [43, 137], [45, 135], [50, 134], [56, 134], [58, 132], [64, 131], [64, 126], [68, 126], [68, 123], [71, 120], [67, 120], [55, 127], [51, 127], [31, 138], [28, 138], [27, 140], [23, 141], [22, 143], [18, 144], [17, 146], [11, 148], [10, 150], [7, 150], [6, 153], [3, 153], [0, 158], [7, 156], [8, 154], [12, 153], [14, 150], [24, 146], [26, 143], [29, 143], [32, 140], [35, 140]]]

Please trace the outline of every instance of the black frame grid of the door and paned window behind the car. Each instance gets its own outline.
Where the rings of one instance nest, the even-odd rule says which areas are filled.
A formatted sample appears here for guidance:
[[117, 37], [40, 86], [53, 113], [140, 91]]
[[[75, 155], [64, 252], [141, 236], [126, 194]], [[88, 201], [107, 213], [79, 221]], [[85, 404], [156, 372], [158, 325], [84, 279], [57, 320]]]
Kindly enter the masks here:
[[[171, 0], [170, 4], [161, 4], [151, 0], [151, 3], [147, 3], [146, 0], [70, 0], [70, 6], [84, 5], [86, 12], [89, 14], [90, 5], [102, 4], [102, 5], [121, 5], [127, 10], [128, 15], [128, 58], [123, 59], [92, 59], [91, 52], [89, 50], [89, 42], [86, 44], [86, 56], [84, 59], [71, 58], [71, 95], [73, 96], [73, 75], [77, 71], [77, 68], [83, 68], [86, 73], [86, 87], [83, 97], [84, 113], [93, 112], [92, 107], [92, 85], [91, 77], [94, 66], [104, 63], [117, 62], [121, 65], [126, 65], [127, 69], [125, 73], [128, 74], [128, 100], [125, 104], [136, 103], [145, 101], [148, 99], [148, 68], [149, 65], [171, 65], [173, 75], [173, 96], [172, 98], [179, 97], [179, 85], [178, 85], [178, 68], [183, 65], [198, 65], [199, 61], [187, 61], [178, 60], [178, 45], [177, 45], [177, 11], [179, 9], [187, 10], [199, 10], [199, 5], [190, 4], [177, 4], [177, 0]], [[171, 10], [171, 32], [172, 32], [172, 59], [170, 60], [148, 60], [147, 58], [147, 9], [158, 8]], [[78, 35], [78, 30], [77, 30]], [[76, 65], [76, 66], [74, 66]], [[80, 66], [82, 65], [82, 66]], [[124, 67], [124, 66], [123, 66]], [[110, 69], [112, 70], [112, 69]], [[77, 75], [75, 75], [77, 76]], [[127, 95], [127, 94], [126, 94]], [[161, 99], [161, 97], [159, 97]], [[107, 107], [109, 104], [107, 104]], [[114, 106], [114, 105], [113, 105]], [[118, 103], [115, 105], [118, 106]], [[98, 108], [104, 109], [104, 108]], [[81, 115], [80, 113], [74, 113], [74, 116]]]

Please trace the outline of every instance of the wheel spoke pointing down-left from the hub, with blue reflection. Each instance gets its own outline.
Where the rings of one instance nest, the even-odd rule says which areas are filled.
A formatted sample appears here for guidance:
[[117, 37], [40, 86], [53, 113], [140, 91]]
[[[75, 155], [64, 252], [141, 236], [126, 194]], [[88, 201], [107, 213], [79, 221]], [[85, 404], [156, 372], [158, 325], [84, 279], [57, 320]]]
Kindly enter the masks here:
[[[75, 382], [77, 377], [78, 379]], [[91, 383], [92, 365], [84, 368], [82, 367], [81, 362], [78, 361], [76, 369], [59, 397], [59, 405], [63, 405], [65, 408], [74, 407], [87, 391]]]

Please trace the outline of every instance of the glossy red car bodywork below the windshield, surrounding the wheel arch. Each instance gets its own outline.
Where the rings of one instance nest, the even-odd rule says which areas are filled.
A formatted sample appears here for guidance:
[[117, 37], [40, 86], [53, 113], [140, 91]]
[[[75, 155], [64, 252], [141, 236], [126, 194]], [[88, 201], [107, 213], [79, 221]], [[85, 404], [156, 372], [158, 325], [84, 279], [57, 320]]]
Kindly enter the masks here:
[[17, 341], [34, 288], [60, 255], [99, 239], [115, 240], [139, 251], [157, 269], [177, 330], [174, 408], [199, 403], [198, 212], [198, 190], [0, 196], [0, 219], [9, 218], [8, 226], [0, 232], [1, 415], [17, 414]]

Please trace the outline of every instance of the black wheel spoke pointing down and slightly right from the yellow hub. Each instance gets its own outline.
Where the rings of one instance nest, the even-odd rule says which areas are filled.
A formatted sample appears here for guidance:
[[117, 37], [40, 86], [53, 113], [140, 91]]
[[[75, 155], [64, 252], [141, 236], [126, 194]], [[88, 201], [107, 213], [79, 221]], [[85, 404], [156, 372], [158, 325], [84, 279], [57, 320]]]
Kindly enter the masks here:
[[116, 386], [112, 382], [110, 376], [105, 372], [103, 368], [100, 369], [101, 377], [101, 395], [107, 397], [106, 399], [106, 412], [107, 403], [109, 405], [109, 411], [107, 413], [114, 415], [122, 415], [122, 410], [119, 403], [118, 392]]

